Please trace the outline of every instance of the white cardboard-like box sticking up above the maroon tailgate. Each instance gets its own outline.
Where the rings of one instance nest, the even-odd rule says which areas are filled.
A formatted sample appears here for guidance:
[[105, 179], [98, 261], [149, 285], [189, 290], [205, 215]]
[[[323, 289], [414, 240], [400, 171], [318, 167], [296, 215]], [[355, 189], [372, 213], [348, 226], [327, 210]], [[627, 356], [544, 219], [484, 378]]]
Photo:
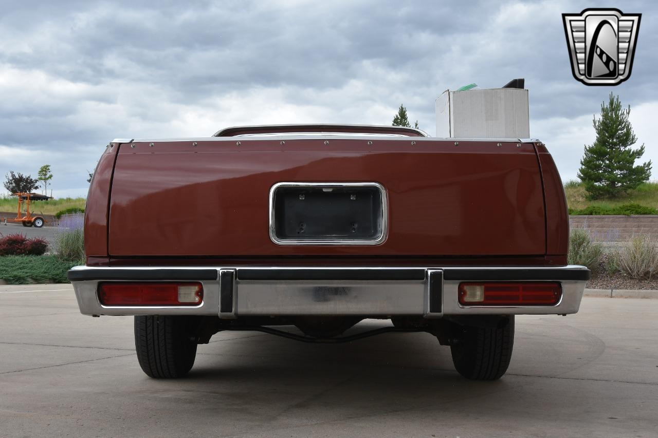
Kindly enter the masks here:
[[528, 90], [445, 90], [436, 99], [436, 136], [529, 138]]

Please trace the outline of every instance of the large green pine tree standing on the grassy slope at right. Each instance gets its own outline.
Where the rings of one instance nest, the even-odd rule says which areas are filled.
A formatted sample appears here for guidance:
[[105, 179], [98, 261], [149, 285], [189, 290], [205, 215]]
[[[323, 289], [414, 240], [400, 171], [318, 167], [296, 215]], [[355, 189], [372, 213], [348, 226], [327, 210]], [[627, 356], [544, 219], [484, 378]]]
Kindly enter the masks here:
[[590, 199], [622, 195], [651, 176], [651, 161], [635, 165], [644, 154], [644, 145], [631, 149], [638, 139], [628, 114], [630, 105], [622, 109], [619, 96], [610, 93], [608, 104], [601, 103], [601, 117], [594, 117], [596, 139], [585, 146], [578, 171]]

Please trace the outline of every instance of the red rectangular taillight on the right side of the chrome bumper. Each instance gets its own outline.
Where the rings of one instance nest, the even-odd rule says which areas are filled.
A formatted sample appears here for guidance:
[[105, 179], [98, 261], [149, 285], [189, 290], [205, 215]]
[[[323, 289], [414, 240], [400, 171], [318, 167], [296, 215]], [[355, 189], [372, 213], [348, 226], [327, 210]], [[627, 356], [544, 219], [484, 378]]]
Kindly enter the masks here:
[[553, 306], [562, 296], [560, 283], [460, 283], [464, 306]]

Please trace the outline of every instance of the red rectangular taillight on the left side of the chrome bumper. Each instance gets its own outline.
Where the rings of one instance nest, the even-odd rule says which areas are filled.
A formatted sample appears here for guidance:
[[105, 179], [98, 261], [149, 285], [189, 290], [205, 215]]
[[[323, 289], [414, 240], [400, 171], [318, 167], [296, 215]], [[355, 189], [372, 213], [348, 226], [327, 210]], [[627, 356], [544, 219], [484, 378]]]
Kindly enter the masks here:
[[201, 283], [101, 283], [105, 306], [196, 306], [203, 301]]

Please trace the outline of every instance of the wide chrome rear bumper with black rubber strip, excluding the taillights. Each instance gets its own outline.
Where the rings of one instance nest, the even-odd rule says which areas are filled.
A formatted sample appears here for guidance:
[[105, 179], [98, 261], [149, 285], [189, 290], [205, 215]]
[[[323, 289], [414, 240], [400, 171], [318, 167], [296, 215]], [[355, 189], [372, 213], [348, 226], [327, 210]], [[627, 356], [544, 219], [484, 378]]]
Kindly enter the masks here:
[[[572, 314], [578, 312], [590, 271], [560, 267], [88, 267], [68, 272], [86, 315], [239, 316], [353, 315], [364, 317], [467, 314]], [[198, 306], [104, 306], [103, 281], [199, 281]], [[553, 306], [463, 306], [463, 281], [559, 281]]]

